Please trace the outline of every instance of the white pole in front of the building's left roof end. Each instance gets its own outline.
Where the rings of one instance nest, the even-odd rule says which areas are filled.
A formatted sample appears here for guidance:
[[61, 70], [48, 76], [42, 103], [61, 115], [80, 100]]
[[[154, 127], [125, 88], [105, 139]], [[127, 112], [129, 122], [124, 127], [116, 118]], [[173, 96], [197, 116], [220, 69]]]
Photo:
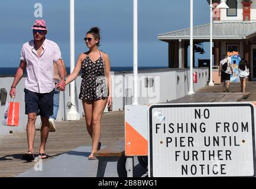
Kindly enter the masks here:
[[188, 94], [195, 94], [193, 89], [193, 0], [190, 0], [190, 87]]

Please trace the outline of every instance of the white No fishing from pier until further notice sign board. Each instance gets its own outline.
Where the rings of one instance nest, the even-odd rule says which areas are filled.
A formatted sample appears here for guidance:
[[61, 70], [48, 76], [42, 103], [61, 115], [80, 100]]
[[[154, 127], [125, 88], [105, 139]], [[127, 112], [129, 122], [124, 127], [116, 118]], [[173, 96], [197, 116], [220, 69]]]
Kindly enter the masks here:
[[255, 177], [251, 103], [151, 105], [150, 177]]

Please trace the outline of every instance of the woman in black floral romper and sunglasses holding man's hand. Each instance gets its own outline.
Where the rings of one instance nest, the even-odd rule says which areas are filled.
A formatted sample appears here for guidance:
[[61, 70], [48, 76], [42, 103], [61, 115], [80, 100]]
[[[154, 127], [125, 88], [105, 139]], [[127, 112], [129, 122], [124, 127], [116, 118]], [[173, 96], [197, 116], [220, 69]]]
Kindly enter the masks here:
[[79, 99], [85, 111], [86, 128], [92, 138], [92, 152], [88, 159], [96, 159], [93, 152], [101, 148], [101, 117], [105, 106], [112, 106], [111, 74], [108, 54], [99, 50], [101, 40], [99, 28], [93, 27], [84, 38], [89, 51], [80, 54], [76, 67], [67, 77], [66, 84], [76, 79], [82, 69]]

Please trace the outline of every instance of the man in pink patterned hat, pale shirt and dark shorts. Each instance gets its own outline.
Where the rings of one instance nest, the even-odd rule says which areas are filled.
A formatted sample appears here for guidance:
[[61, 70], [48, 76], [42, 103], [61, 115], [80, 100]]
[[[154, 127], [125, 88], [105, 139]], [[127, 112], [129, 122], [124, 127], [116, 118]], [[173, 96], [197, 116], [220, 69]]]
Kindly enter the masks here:
[[45, 154], [46, 141], [49, 130], [49, 116], [53, 115], [53, 64], [58, 66], [61, 77], [59, 88], [65, 89], [65, 71], [61, 64], [61, 53], [59, 46], [53, 41], [47, 40], [47, 27], [43, 19], [36, 19], [34, 22], [33, 36], [31, 40], [22, 45], [20, 66], [14, 77], [9, 95], [16, 96], [16, 86], [20, 82], [27, 69], [25, 80], [25, 114], [28, 115], [27, 141], [28, 151], [23, 158], [27, 161], [34, 159], [34, 137], [35, 120], [41, 116], [41, 145], [39, 148], [39, 158], [48, 158]]

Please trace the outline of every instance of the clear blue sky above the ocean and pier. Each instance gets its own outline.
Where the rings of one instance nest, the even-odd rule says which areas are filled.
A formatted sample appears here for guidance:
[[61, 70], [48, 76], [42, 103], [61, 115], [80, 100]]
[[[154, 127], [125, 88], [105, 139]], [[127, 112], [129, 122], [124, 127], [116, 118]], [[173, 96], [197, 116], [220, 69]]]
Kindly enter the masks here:
[[[87, 51], [83, 41], [90, 27], [101, 28], [101, 50], [109, 54], [111, 66], [132, 66], [132, 0], [75, 1], [75, 61]], [[21, 45], [33, 38], [34, 5], [43, 5], [49, 28], [47, 38], [60, 46], [70, 65], [69, 0], [0, 1], [0, 67], [17, 67]], [[168, 66], [168, 44], [157, 34], [189, 28], [190, 0], [138, 0], [138, 66]], [[209, 4], [194, 1], [194, 25], [209, 23]], [[208, 45], [205, 45], [205, 49]], [[200, 58], [209, 58], [206, 53]], [[197, 60], [197, 57], [196, 57]]]

